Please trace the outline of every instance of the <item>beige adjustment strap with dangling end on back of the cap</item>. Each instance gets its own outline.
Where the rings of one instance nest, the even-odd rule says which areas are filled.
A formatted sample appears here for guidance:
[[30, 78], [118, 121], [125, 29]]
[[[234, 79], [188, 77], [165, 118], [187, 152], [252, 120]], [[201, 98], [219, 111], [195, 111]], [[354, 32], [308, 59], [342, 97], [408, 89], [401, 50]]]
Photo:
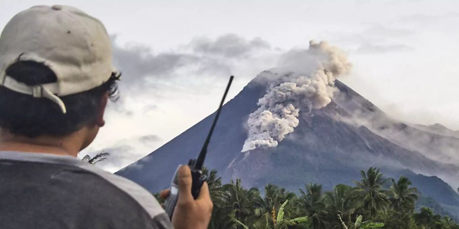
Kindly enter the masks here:
[[0, 81], [0, 85], [3, 85], [3, 87], [21, 94], [32, 95], [35, 98], [47, 98], [58, 104], [62, 113], [67, 112], [64, 102], [62, 102], [61, 98], [54, 94], [58, 92], [57, 83], [45, 83], [30, 86], [25, 83], [18, 82], [11, 76], [5, 75], [5, 79], [3, 82]]

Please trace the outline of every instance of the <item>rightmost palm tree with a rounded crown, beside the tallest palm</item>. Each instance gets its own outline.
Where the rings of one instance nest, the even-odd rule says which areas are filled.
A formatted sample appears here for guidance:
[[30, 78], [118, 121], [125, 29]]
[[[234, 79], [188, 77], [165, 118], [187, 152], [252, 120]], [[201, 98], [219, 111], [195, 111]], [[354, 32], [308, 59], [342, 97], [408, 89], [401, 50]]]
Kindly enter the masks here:
[[414, 210], [415, 202], [418, 199], [418, 190], [414, 187], [410, 188], [410, 185], [411, 181], [406, 177], [400, 177], [397, 183], [392, 179], [391, 202], [395, 211]]

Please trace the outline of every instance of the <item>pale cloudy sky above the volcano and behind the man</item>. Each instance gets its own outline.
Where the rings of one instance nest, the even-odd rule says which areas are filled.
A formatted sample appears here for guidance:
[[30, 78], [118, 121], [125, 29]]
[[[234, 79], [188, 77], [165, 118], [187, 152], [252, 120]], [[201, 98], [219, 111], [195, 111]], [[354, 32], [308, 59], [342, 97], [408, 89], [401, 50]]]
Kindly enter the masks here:
[[100, 19], [113, 41], [121, 97], [81, 153], [110, 152], [109, 171], [207, 117], [231, 74], [228, 98], [310, 40], [343, 50], [353, 67], [340, 80], [390, 116], [459, 130], [457, 1], [0, 0], [0, 27], [54, 4]]

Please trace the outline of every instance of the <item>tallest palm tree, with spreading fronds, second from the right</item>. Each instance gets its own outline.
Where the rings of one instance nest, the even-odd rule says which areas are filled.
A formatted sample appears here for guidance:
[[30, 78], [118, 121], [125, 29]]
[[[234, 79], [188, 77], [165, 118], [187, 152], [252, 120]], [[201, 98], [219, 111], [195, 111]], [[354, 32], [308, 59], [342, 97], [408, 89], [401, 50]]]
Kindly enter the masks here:
[[391, 202], [383, 185], [389, 180], [382, 178], [378, 168], [370, 167], [365, 173], [360, 171], [361, 181], [354, 181], [357, 186], [358, 195], [361, 198], [363, 208], [370, 211], [371, 217], [374, 218], [378, 211], [386, 212]]

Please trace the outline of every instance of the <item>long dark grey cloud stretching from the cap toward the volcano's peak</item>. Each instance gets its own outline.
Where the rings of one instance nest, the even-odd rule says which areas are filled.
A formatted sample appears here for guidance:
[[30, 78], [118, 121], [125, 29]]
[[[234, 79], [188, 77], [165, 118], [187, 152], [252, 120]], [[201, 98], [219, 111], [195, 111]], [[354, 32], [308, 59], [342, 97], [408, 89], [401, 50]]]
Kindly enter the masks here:
[[114, 64], [123, 73], [123, 84], [141, 87], [155, 80], [170, 81], [182, 73], [188, 75], [231, 74], [235, 64], [260, 50], [270, 50], [268, 42], [261, 38], [245, 39], [235, 34], [226, 34], [216, 39], [200, 37], [189, 44], [168, 52], [154, 53], [144, 44], [121, 46], [112, 35]]

